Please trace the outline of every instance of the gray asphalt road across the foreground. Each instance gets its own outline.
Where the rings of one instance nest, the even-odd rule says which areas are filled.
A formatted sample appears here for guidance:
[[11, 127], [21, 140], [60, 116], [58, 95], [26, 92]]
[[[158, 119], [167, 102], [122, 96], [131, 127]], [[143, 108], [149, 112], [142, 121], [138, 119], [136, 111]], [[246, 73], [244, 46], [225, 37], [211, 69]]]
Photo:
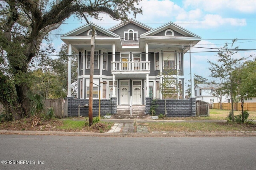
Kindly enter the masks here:
[[1, 170], [255, 170], [256, 137], [0, 135]]

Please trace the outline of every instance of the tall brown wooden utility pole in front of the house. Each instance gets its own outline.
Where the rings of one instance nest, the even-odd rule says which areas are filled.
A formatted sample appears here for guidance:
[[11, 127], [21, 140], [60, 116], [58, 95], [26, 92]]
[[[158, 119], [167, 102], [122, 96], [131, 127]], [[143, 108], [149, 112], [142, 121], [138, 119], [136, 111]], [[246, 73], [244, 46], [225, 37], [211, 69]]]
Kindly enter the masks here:
[[92, 92], [93, 92], [93, 74], [94, 74], [94, 48], [95, 48], [95, 27], [92, 27], [91, 37], [91, 55], [90, 55], [90, 85], [89, 85], [89, 126], [92, 125]]

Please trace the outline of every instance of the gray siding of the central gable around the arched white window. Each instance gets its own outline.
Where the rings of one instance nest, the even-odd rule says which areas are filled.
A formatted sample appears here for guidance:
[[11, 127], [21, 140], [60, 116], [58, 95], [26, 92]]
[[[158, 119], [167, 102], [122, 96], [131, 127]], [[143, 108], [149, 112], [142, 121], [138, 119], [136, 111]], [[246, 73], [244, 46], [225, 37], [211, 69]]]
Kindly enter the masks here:
[[123, 45], [139, 43], [138, 41], [124, 41], [124, 31], [128, 31], [128, 29], [133, 29], [134, 31], [138, 31], [138, 40], [139, 40], [139, 37], [141, 34], [148, 32], [148, 30], [146, 30], [142, 27], [139, 27], [138, 25], [135, 25], [133, 23], [128, 23], [128, 24], [124, 25], [123, 27], [112, 31], [113, 33], [115, 33], [121, 37]]

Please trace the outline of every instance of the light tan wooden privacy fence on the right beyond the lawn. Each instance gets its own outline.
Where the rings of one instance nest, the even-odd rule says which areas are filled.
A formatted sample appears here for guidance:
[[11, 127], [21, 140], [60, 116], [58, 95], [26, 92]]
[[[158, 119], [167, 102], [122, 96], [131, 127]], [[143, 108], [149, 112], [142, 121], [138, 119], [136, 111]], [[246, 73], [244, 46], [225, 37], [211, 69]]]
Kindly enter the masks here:
[[[234, 103], [233, 104], [234, 110], [242, 111], [241, 103]], [[220, 103], [214, 103], [213, 109], [220, 109]], [[224, 110], [231, 110], [231, 103], [222, 103], [222, 109]], [[248, 111], [256, 111], [256, 103], [244, 103], [244, 110]]]

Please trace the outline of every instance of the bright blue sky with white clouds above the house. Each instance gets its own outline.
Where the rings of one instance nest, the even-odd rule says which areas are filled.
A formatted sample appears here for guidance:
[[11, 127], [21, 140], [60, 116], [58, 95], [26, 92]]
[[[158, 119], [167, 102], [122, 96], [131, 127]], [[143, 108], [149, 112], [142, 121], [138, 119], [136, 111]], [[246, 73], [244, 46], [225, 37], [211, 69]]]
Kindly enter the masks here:
[[[202, 40], [196, 45], [204, 48], [220, 48], [224, 44], [232, 43], [237, 38], [235, 46], [239, 49], [254, 49], [240, 51], [234, 58], [256, 55], [256, 1], [254, 0], [142, 0], [143, 14], [137, 15], [135, 20], [152, 28], [159, 27], [170, 21], [200, 36]], [[102, 20], [88, 18], [106, 29], [120, 23], [109, 16], [100, 15]], [[133, 18], [132, 14], [130, 18]], [[52, 33], [64, 34], [86, 23], [78, 21], [73, 16], [67, 20], [67, 24], [60, 26]], [[59, 50], [61, 44], [60, 35], [53, 37], [54, 47]], [[207, 52], [206, 51], [212, 51]], [[215, 52], [214, 52], [215, 51]], [[216, 61], [217, 52], [213, 49], [192, 48], [192, 70], [195, 74], [206, 77], [210, 75], [207, 60]], [[190, 78], [189, 53], [184, 55], [186, 81]]]

